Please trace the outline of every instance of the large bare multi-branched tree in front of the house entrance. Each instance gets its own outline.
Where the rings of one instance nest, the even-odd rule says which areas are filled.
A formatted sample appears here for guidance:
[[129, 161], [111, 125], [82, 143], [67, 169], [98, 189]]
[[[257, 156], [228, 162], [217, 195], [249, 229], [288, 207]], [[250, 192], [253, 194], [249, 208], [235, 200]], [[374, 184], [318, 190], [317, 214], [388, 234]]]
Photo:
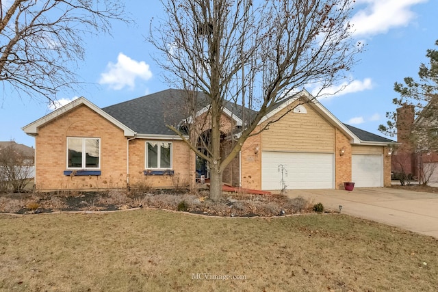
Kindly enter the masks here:
[[[344, 78], [360, 44], [350, 38], [352, 0], [162, 0], [165, 18], [151, 23], [149, 42], [159, 50], [157, 62], [167, 81], [202, 92], [208, 111], [209, 141], [200, 151], [193, 137], [205, 127], [193, 116], [192, 139], [169, 125], [211, 168], [210, 198], [222, 194], [222, 172], [250, 135], [276, 120], [259, 122], [278, 103], [305, 85], [320, 92]], [[317, 97], [316, 94], [315, 97]], [[198, 101], [188, 101], [194, 109]], [[244, 121], [232, 136], [228, 155], [220, 156], [221, 117], [233, 103]], [[292, 109], [289, 109], [292, 110]]]

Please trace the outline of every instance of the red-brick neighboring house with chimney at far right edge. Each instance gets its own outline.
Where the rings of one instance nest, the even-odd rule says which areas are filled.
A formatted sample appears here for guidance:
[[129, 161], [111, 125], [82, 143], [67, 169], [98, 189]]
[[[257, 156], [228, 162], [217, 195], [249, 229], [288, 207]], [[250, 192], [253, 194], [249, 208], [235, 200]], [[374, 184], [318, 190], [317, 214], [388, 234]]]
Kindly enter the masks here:
[[431, 103], [417, 116], [414, 105], [404, 104], [397, 109], [399, 146], [391, 158], [391, 169], [396, 178], [405, 175], [420, 183], [438, 182], [437, 111]]

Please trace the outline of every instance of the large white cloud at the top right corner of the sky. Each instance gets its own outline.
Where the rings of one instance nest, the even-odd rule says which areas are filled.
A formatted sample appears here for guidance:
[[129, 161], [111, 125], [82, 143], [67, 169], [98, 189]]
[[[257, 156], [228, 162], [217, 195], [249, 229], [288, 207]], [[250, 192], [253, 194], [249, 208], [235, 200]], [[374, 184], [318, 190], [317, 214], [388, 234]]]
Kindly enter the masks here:
[[[357, 0], [359, 12], [352, 16], [355, 36], [385, 34], [394, 27], [404, 27], [415, 18], [413, 5], [428, 0]], [[436, 1], [436, 0], [435, 0]], [[361, 9], [365, 5], [365, 8]]]

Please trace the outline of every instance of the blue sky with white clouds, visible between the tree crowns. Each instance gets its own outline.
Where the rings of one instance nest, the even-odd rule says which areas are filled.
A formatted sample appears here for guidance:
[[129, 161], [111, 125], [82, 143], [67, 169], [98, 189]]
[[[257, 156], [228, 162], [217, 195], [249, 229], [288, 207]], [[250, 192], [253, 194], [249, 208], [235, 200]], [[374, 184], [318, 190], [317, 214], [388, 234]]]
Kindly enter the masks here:
[[[90, 84], [77, 96], [99, 107], [169, 88], [151, 57], [154, 48], [144, 40], [151, 18], [161, 13], [161, 3], [139, 0], [126, 5], [135, 25], [116, 23], [112, 37], [85, 39], [86, 62], [79, 75]], [[382, 135], [378, 125], [386, 122], [387, 111], [394, 111], [391, 101], [398, 97], [394, 82], [416, 77], [420, 63], [427, 62], [426, 50], [435, 49], [437, 12], [437, 0], [356, 0], [351, 21], [354, 36], [366, 44], [366, 51], [350, 71], [351, 83], [336, 96], [320, 99], [322, 105], [341, 122]], [[53, 109], [40, 100], [8, 94], [8, 90], [2, 94], [0, 141], [34, 146], [34, 137], [21, 128]], [[75, 97], [58, 99], [64, 104]]]

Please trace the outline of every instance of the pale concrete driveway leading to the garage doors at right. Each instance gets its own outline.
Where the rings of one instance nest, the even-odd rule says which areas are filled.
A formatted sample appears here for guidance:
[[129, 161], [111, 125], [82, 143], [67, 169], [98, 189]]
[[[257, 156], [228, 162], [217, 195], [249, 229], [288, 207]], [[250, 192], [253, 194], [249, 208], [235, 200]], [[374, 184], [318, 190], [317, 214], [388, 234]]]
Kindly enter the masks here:
[[392, 188], [298, 189], [287, 196], [302, 196], [326, 209], [398, 226], [438, 239], [438, 194]]

